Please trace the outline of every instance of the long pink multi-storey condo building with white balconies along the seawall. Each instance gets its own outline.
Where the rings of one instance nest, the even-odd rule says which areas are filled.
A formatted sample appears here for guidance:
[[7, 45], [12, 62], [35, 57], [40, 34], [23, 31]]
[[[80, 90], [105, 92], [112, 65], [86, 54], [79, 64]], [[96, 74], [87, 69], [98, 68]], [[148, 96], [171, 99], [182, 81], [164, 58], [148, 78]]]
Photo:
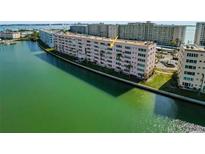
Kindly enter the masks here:
[[140, 79], [147, 79], [152, 75], [155, 67], [155, 43], [117, 40], [111, 48], [111, 42], [110, 38], [89, 35], [54, 34], [54, 45], [58, 52]]

